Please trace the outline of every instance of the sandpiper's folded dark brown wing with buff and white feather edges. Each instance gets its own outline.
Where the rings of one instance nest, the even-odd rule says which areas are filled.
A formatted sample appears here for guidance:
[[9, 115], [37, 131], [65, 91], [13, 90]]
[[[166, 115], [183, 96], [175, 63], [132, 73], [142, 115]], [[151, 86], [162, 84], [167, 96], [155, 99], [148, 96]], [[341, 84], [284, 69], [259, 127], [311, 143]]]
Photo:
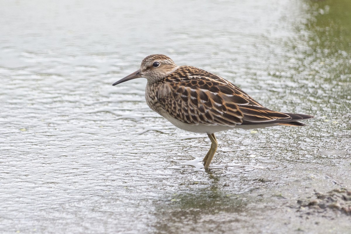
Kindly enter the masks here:
[[303, 126], [296, 121], [313, 118], [265, 108], [229, 81], [199, 68], [179, 67], [165, 79], [158, 86], [158, 101], [167, 114], [191, 125]]

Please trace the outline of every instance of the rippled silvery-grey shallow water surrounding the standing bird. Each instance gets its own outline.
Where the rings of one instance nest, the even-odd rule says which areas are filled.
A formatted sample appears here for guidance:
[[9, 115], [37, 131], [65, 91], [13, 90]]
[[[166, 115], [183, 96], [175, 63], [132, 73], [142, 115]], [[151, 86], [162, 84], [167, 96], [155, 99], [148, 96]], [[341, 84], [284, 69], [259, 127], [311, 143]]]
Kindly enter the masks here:
[[[350, 189], [349, 1], [3, 1], [1, 233], [346, 233], [297, 201]], [[154, 53], [307, 127], [205, 135], [111, 84]], [[329, 212], [329, 213], [328, 213]], [[306, 218], [307, 216], [307, 218]]]

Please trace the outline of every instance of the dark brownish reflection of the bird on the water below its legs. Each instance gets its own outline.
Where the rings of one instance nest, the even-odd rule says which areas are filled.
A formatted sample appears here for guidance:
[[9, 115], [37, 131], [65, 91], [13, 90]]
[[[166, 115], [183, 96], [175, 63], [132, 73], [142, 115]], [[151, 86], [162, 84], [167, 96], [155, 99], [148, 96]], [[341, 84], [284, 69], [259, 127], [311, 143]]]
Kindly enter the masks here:
[[[207, 177], [211, 183], [205, 188], [172, 194], [154, 203], [155, 222], [151, 226], [156, 233], [218, 232], [223, 229], [220, 225], [239, 222], [236, 217], [244, 212], [249, 201], [226, 191], [221, 177], [211, 172]], [[226, 218], [219, 222], [214, 216]]]

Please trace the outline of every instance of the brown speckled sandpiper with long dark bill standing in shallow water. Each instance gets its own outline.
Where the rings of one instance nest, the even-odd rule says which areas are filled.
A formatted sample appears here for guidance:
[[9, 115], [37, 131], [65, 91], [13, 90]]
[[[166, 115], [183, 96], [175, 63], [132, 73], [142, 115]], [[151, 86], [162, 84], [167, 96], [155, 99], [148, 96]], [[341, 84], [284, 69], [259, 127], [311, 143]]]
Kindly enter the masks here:
[[254, 129], [276, 125], [305, 126], [299, 120], [312, 115], [272, 111], [218, 75], [191, 66], [177, 66], [168, 56], [147, 56], [140, 69], [113, 83], [144, 77], [147, 105], [174, 126], [207, 133], [211, 148], [203, 159], [208, 169], [217, 150], [215, 132], [233, 128]]

